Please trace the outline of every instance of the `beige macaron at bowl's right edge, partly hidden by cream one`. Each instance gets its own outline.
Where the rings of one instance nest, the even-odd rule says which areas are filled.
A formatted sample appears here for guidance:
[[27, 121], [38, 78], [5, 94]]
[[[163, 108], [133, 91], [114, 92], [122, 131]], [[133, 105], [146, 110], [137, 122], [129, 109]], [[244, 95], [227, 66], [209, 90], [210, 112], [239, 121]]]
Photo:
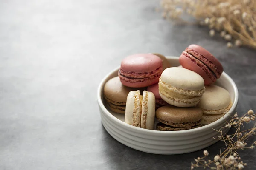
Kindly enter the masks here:
[[217, 85], [205, 86], [205, 88], [205, 93], [197, 107], [204, 113], [202, 123], [208, 125], [227, 113], [232, 106], [232, 101], [229, 92], [224, 88]]

